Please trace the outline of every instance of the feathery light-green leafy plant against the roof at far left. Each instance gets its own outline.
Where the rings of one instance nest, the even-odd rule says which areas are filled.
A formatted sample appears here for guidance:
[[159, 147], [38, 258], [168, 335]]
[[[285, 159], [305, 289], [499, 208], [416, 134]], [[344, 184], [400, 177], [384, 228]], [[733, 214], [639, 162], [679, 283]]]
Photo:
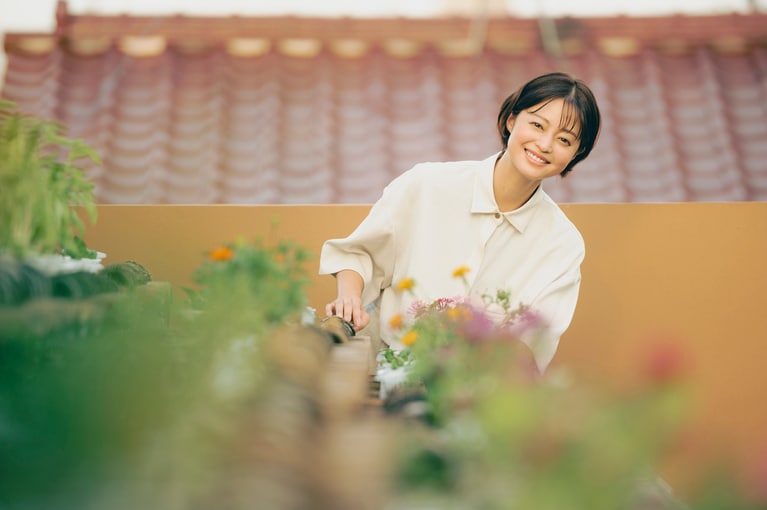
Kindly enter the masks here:
[[77, 162], [100, 159], [82, 140], [61, 132], [53, 121], [0, 102], [0, 250], [11, 256], [95, 256], [79, 237], [85, 225], [76, 206], [93, 222], [96, 205], [93, 183]]

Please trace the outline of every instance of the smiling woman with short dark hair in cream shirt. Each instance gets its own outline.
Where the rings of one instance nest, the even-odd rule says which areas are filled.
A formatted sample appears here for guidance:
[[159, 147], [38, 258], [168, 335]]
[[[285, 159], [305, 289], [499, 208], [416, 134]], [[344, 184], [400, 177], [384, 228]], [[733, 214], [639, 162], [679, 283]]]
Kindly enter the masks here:
[[[324, 244], [320, 273], [337, 281], [325, 312], [358, 330], [380, 316], [371, 336], [397, 349], [390, 319], [413, 302], [465, 293], [481, 306], [485, 296], [510, 291], [512, 308], [531, 307], [546, 324], [522, 337], [544, 370], [575, 310], [585, 248], [541, 182], [586, 158], [599, 128], [596, 99], [582, 81], [554, 72], [525, 83], [501, 105], [500, 152], [416, 165], [386, 187], [354, 232]], [[456, 267], [472, 270], [451, 281]], [[417, 285], [403, 289], [403, 281]]]

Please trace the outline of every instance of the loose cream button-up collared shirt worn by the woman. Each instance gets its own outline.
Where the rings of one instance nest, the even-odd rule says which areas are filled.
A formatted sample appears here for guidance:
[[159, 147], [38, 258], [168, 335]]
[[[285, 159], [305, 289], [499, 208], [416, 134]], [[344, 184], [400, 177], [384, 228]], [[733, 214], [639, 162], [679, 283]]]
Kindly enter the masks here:
[[[352, 269], [362, 276], [363, 305], [377, 304], [381, 338], [392, 348], [402, 346], [389, 319], [405, 315], [413, 301], [500, 289], [511, 293], [513, 308], [528, 305], [548, 324], [528, 342], [538, 367], [553, 358], [578, 300], [583, 238], [541, 187], [522, 207], [501, 213], [493, 194], [497, 157], [414, 166], [384, 189], [354, 232], [323, 245], [320, 274]], [[463, 265], [469, 289], [453, 277]], [[393, 288], [403, 278], [415, 281], [412, 292]]]

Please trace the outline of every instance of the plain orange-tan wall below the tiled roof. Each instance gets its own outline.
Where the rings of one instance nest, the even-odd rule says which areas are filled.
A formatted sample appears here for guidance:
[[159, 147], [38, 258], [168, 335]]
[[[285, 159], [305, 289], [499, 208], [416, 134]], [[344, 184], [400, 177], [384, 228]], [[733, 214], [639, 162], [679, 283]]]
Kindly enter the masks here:
[[[291, 239], [319, 254], [369, 206], [100, 206], [86, 236], [106, 263], [135, 260], [155, 280], [191, 284], [205, 253], [238, 236]], [[552, 369], [623, 385], [650, 346], [687, 353], [694, 404], [684, 447], [664, 475], [687, 483], [693, 466], [728, 452], [747, 463], [767, 448], [767, 203], [572, 204], [586, 240], [581, 297]], [[271, 228], [273, 221], [278, 226]], [[315, 258], [310, 271], [317, 270]], [[333, 295], [317, 277], [310, 304]]]

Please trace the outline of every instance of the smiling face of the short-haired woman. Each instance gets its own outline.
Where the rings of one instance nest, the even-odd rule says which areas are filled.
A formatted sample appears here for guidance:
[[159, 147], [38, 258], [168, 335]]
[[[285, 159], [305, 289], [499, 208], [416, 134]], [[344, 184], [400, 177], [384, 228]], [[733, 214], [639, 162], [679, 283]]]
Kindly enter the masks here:
[[[577, 118], [563, 115], [565, 102], [553, 99], [509, 117], [507, 152], [514, 168], [531, 181], [559, 175], [578, 152]], [[564, 112], [569, 113], [569, 112]]]

